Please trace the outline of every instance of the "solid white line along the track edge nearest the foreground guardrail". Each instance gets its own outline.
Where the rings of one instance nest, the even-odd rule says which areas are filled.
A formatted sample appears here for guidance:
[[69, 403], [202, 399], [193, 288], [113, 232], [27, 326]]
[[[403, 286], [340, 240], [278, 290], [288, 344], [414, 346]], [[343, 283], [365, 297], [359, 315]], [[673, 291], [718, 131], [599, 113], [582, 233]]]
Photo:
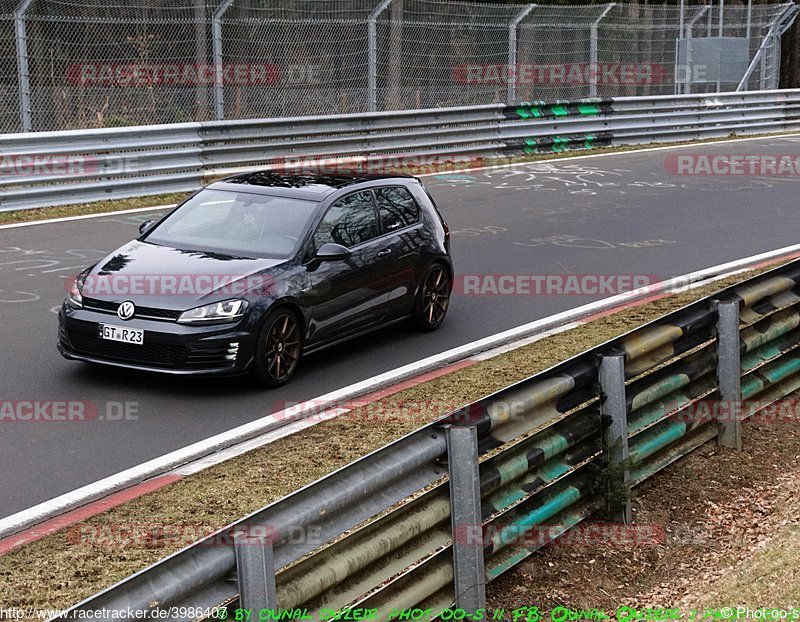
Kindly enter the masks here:
[[[697, 272], [675, 277], [662, 283], [631, 292], [617, 294], [610, 298], [591, 302], [575, 309], [529, 322], [528, 324], [489, 337], [484, 337], [483, 339], [478, 339], [477, 341], [464, 344], [440, 354], [429, 356], [415, 363], [373, 376], [372, 378], [332, 391], [298, 406], [266, 417], [261, 417], [260, 419], [238, 426], [227, 432], [193, 443], [159, 458], [106, 477], [93, 484], [88, 484], [82, 488], [63, 494], [50, 501], [40, 503], [22, 512], [12, 514], [0, 520], [0, 539], [69, 510], [108, 496], [123, 488], [128, 488], [157, 475], [162, 475], [184, 465], [188, 465], [189, 463], [205, 458], [215, 452], [228, 450], [245, 441], [263, 437], [267, 433], [272, 433], [279, 428], [295, 424], [312, 415], [314, 415], [314, 417], [312, 417], [314, 420], [319, 420], [320, 413], [327, 408], [337, 407], [337, 405], [341, 405], [347, 400], [372, 393], [380, 388], [391, 386], [402, 380], [419, 376], [427, 371], [444, 367], [450, 363], [464, 360], [493, 348], [506, 346], [520, 339], [539, 335], [544, 331], [552, 330], [569, 322], [578, 321], [583, 317], [593, 315], [600, 311], [606, 311], [628, 302], [648, 298], [657, 293], [672, 292], [681, 290], [681, 288], [688, 288], [692, 284], [696, 284], [700, 281], [703, 281], [703, 284], [705, 284], [709, 279], [716, 280], [717, 278], [722, 278], [723, 276], [741, 271], [748, 266], [757, 265], [770, 259], [797, 253], [798, 251], [800, 251], [800, 244], [795, 244], [745, 259], [731, 261], [712, 268], [698, 270]], [[269, 442], [269, 440], [264, 441], [264, 443], [266, 442]], [[258, 446], [258, 443], [256, 443], [255, 446]], [[236, 454], [236, 451], [234, 450], [233, 453]], [[230, 452], [228, 456], [231, 457]], [[214, 463], [214, 461], [210, 460], [206, 464], [210, 465], [212, 463]]]

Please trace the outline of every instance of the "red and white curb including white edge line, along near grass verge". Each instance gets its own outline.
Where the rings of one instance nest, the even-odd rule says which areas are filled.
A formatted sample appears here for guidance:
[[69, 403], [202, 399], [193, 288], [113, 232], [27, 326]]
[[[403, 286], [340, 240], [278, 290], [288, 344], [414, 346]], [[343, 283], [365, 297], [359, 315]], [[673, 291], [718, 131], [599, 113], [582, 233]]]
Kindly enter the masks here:
[[[0, 555], [210, 466], [403, 389], [659, 298], [800, 256], [800, 244], [618, 294], [512, 328], [217, 434], [0, 520]], [[348, 407], [343, 407], [347, 404]]]

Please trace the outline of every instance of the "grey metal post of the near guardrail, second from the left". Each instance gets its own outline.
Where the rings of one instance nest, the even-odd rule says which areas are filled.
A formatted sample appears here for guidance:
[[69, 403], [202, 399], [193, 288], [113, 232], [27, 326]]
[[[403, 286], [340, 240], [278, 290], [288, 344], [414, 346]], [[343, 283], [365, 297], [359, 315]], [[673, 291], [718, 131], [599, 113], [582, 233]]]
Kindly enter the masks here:
[[474, 426], [445, 426], [450, 475], [450, 524], [456, 607], [468, 612], [486, 607], [483, 543], [464, 534], [481, 528], [478, 431]]

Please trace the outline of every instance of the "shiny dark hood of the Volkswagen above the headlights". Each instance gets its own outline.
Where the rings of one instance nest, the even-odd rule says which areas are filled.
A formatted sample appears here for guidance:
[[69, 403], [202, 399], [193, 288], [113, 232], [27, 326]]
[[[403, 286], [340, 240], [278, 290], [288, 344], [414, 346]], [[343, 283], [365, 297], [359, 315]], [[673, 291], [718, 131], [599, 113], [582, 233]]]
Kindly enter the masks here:
[[83, 297], [186, 310], [216, 300], [263, 295], [274, 284], [271, 270], [286, 261], [134, 240], [95, 264], [84, 281]]

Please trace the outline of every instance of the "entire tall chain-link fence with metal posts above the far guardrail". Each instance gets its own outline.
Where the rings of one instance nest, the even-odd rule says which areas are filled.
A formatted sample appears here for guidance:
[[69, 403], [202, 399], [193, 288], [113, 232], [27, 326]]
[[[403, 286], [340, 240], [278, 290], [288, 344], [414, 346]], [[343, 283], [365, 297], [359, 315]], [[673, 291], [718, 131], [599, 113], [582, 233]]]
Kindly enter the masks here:
[[0, 132], [777, 87], [793, 3], [0, 0]]

